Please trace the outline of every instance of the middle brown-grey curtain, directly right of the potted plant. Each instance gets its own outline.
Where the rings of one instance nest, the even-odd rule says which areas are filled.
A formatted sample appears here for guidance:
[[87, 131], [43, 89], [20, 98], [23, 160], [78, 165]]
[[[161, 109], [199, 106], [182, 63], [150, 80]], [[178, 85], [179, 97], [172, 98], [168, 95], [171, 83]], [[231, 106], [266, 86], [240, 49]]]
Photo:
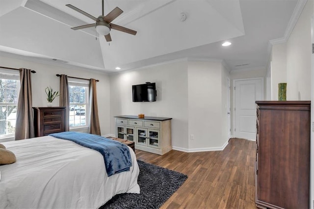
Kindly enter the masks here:
[[69, 107], [70, 107], [70, 94], [69, 94], [69, 83], [68, 76], [62, 74], [60, 76], [60, 96], [59, 96], [60, 106], [65, 106], [65, 131], [69, 131]]

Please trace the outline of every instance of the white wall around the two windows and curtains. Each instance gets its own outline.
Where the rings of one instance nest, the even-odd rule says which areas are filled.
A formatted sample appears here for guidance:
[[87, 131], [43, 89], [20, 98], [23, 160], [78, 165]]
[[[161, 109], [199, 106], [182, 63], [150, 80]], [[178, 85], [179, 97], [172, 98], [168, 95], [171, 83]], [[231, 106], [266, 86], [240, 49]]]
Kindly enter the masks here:
[[[97, 71], [82, 70], [75, 67], [65, 68], [47, 63], [27, 61], [19, 57], [0, 56], [0, 66], [9, 68], [27, 68], [36, 71], [31, 75], [32, 103], [33, 106], [47, 106], [45, 88], [51, 86], [54, 91], [59, 91], [60, 78], [56, 74], [66, 74], [79, 78], [95, 78], [97, 82], [97, 99], [99, 110], [99, 121], [102, 135], [110, 133], [110, 97], [109, 77], [105, 73]], [[59, 105], [59, 97], [53, 101], [53, 106]], [[86, 130], [85, 130], [86, 131]]]

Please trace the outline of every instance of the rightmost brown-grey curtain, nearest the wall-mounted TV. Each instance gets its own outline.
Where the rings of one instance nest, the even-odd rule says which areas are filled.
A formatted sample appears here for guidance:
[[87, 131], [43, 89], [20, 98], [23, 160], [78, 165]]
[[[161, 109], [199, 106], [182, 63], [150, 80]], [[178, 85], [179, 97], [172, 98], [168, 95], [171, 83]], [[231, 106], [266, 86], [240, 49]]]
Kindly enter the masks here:
[[90, 105], [89, 133], [101, 135], [98, 117], [96, 80], [93, 78], [91, 78], [89, 81], [89, 105]]

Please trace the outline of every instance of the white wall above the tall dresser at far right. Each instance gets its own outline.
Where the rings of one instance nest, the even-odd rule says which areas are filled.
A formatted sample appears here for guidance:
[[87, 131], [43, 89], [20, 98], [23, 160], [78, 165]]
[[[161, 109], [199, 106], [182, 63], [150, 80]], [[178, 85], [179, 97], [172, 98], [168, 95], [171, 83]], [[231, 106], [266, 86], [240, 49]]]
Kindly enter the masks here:
[[311, 100], [311, 18], [308, 0], [287, 41], [287, 100]]

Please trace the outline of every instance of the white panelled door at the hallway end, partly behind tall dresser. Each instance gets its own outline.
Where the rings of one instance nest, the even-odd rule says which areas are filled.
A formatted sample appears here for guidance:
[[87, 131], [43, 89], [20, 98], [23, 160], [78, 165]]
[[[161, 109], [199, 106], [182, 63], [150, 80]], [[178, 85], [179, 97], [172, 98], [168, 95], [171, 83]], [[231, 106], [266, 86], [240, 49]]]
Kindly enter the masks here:
[[263, 100], [263, 78], [235, 80], [235, 137], [256, 139], [256, 104]]

